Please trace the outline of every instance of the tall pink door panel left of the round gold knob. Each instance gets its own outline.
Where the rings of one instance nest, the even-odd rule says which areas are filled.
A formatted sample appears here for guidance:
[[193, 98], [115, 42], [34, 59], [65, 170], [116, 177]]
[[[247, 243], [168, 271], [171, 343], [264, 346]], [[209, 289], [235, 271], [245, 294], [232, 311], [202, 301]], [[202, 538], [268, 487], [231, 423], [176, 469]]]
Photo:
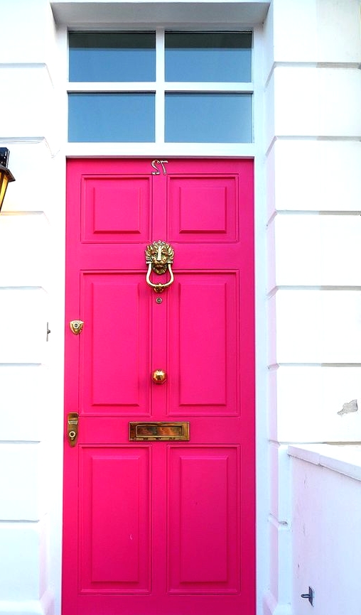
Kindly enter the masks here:
[[82, 273], [82, 413], [149, 414], [149, 293], [144, 273]]

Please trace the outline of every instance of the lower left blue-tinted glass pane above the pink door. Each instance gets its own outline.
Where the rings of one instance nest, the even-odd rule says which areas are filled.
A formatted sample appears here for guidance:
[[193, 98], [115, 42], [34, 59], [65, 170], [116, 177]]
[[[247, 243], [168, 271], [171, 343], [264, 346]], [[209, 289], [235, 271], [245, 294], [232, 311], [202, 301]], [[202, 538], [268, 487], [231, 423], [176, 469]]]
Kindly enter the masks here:
[[69, 94], [69, 141], [154, 141], [154, 94]]

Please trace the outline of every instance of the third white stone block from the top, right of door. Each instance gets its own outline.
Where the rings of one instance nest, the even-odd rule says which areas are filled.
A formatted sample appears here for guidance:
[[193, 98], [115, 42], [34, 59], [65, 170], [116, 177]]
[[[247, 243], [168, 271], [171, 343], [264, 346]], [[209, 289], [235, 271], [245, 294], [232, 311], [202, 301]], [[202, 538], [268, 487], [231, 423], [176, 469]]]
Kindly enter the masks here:
[[280, 139], [267, 167], [269, 217], [275, 210], [360, 212], [360, 141]]

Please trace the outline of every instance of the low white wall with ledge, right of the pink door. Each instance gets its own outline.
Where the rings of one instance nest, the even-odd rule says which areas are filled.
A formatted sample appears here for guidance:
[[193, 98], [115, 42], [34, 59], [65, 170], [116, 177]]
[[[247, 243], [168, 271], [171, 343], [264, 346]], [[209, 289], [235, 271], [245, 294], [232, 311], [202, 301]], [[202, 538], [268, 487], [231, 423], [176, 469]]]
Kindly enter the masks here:
[[292, 446], [292, 605], [314, 591], [312, 614], [359, 615], [361, 447]]

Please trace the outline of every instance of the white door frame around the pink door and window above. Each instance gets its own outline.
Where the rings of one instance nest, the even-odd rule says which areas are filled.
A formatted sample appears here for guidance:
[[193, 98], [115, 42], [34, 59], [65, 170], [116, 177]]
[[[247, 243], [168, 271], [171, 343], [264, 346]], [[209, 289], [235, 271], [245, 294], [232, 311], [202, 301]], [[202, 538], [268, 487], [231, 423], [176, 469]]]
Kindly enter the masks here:
[[[60, 11], [60, 3], [57, 10]], [[99, 21], [95, 18], [93, 7], [96, 6], [96, 2], [90, 8], [90, 15], [88, 16], [87, 23], [83, 23], [82, 27], [87, 29], [99, 28]], [[173, 26], [181, 27], [182, 29], [192, 29], [191, 19], [192, 16], [187, 15], [187, 23], [182, 21], [177, 23], [176, 14], [173, 12], [175, 9], [171, 5], [167, 7], [170, 13], [163, 12], [164, 4], [162, 2], [158, 4], [158, 22], [161, 25], [162, 20], [166, 21], [168, 26], [170, 23]], [[205, 6], [205, 18], [203, 23], [197, 23], [197, 29], [209, 30], [215, 27], [216, 22], [212, 22], [212, 16], [208, 11], [212, 9], [212, 3], [195, 3], [204, 4]], [[252, 10], [252, 5], [256, 6], [260, 3], [249, 1], [247, 3], [239, 3], [240, 5], [249, 5]], [[264, 10], [269, 7], [270, 2], [263, 2]], [[100, 5], [99, 5], [100, 6]], [[137, 2], [127, 3], [129, 13], [122, 16], [122, 23], [113, 22], [114, 27], [121, 26], [122, 29], [134, 29], [138, 27], [146, 26], [147, 21], [143, 18], [143, 14], [139, 8]], [[104, 18], [107, 18], [107, 10], [104, 6], [100, 8], [105, 12], [102, 13]], [[242, 7], [241, 7], [242, 8]], [[131, 13], [133, 9], [134, 13]], [[187, 7], [188, 9], [188, 7]], [[148, 8], [146, 7], [148, 11]], [[263, 10], [263, 9], [262, 9]], [[61, 14], [60, 14], [61, 13]], [[155, 13], [151, 13], [151, 19], [155, 20]], [[166, 148], [159, 153], [157, 148], [153, 144], [146, 144], [145, 147], [141, 147], [141, 156], [149, 156], [151, 158], [158, 158], [160, 155], [163, 158], [172, 158], [172, 156], [192, 156], [198, 157], [210, 157], [210, 158], [253, 158], [254, 159], [254, 255], [255, 255], [255, 273], [254, 273], [254, 290], [255, 290], [255, 334], [256, 334], [256, 357], [255, 357], [255, 375], [256, 375], [256, 399], [255, 399], [255, 412], [256, 412], [256, 532], [257, 532], [257, 614], [263, 612], [263, 597], [266, 594], [266, 590], [269, 587], [269, 447], [268, 447], [268, 425], [267, 425], [267, 408], [269, 405], [267, 396], [267, 381], [268, 373], [266, 371], [266, 356], [267, 356], [267, 309], [266, 298], [264, 288], [266, 288], [266, 178], [265, 178], [265, 163], [264, 163], [264, 127], [262, 122], [257, 121], [257, 118], [262, 118], [264, 109], [264, 84], [262, 82], [262, 70], [264, 68], [263, 49], [265, 45], [264, 31], [262, 23], [264, 16], [254, 13], [253, 21], [245, 21], [244, 16], [239, 16], [239, 21], [232, 23], [232, 28], [244, 28], [250, 26], [254, 33], [254, 143], [239, 144], [235, 148], [230, 146], [222, 146], [222, 144], [209, 144], [196, 145], [196, 146], [183, 146], [178, 144], [176, 149]], [[137, 23], [138, 20], [138, 23]], [[61, 7], [61, 11], [55, 14], [56, 22], [56, 39], [58, 45], [58, 51], [60, 58], [60, 84], [63, 82], [63, 89], [66, 91], [67, 82], [65, 75], [67, 74], [67, 31], [68, 28], [79, 27], [80, 21], [74, 13], [68, 11], [66, 3]], [[152, 22], [156, 23], [156, 21]], [[65, 99], [65, 98], [64, 98]], [[66, 124], [66, 109], [63, 105], [63, 111], [60, 112], [60, 120], [63, 118], [63, 124]], [[65, 166], [68, 158], [77, 158], [82, 156], [84, 158], [95, 156], [99, 158], [132, 158], [139, 157], [139, 144], [126, 143], [114, 146], [112, 143], [97, 143], [97, 144], [76, 144], [66, 143], [63, 141], [63, 152], [60, 156], [55, 158], [55, 182], [60, 185], [60, 190], [57, 192], [57, 200], [59, 209], [53, 217], [53, 224], [55, 223], [60, 232], [58, 234], [58, 253], [63, 254], [64, 251], [64, 219], [65, 211]], [[63, 281], [64, 271], [63, 264], [60, 264], [58, 268], [58, 276], [55, 273], [55, 277]], [[64, 290], [65, 285], [63, 282], [57, 285], [55, 291], [55, 305], [53, 309], [53, 319], [58, 322], [65, 321], [65, 315], [63, 310], [64, 305]], [[50, 327], [52, 322], [50, 321]], [[64, 410], [61, 403], [63, 396], [63, 356], [64, 356], [64, 342], [63, 335], [60, 337], [54, 332], [50, 339], [53, 342], [53, 375], [51, 376], [55, 394], [53, 402], [57, 409], [56, 414], [56, 432], [54, 436], [55, 446], [58, 450], [55, 472], [52, 476], [52, 486], [54, 489], [54, 510], [57, 511], [52, 516], [51, 520], [51, 532], [53, 535], [53, 544], [58, 545], [53, 549], [53, 561], [54, 566], [50, 577], [55, 587], [55, 604], [60, 603], [61, 588], [60, 588], [60, 568], [61, 568], [61, 549], [60, 545], [63, 537], [62, 523], [61, 523], [61, 503], [63, 500], [63, 472], [62, 472], [62, 452], [63, 449], [63, 435], [61, 434], [61, 427], [63, 425]], [[59, 403], [60, 402], [60, 403]], [[277, 558], [275, 558], [276, 561]]]

